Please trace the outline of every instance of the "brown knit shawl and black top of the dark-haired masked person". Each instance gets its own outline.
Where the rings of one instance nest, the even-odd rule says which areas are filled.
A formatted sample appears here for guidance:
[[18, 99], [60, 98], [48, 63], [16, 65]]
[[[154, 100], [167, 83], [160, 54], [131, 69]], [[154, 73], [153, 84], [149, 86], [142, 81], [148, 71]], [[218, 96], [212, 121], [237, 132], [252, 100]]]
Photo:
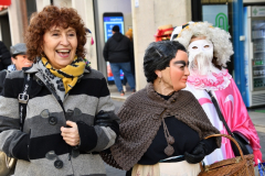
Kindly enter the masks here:
[[[120, 136], [110, 147], [112, 153], [102, 154], [107, 164], [126, 170], [137, 163], [152, 166], [167, 157], [183, 155], [192, 151], [203, 138], [220, 133], [212, 127], [192, 94], [180, 90], [166, 97], [156, 92], [149, 82], [145, 89], [126, 99], [118, 112], [121, 120]], [[174, 138], [173, 142], [169, 133]], [[205, 144], [212, 152], [220, 147], [221, 139], [213, 139], [213, 142]], [[168, 150], [170, 146], [172, 153]]]

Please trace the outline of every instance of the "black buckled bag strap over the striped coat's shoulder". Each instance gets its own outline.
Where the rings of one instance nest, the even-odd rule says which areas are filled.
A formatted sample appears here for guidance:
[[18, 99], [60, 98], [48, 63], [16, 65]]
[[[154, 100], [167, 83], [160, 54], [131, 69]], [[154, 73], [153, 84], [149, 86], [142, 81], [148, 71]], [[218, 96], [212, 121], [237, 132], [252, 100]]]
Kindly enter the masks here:
[[26, 116], [26, 105], [30, 99], [29, 92], [32, 85], [32, 74], [24, 74], [24, 90], [19, 94], [19, 114], [20, 114], [20, 130], [23, 131], [24, 119]]

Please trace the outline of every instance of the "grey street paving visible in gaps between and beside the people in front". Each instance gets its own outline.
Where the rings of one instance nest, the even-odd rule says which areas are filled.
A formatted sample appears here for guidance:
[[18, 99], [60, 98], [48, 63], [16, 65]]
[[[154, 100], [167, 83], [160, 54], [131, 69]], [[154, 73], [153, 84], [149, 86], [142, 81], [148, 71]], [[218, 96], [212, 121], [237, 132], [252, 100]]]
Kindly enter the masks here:
[[[117, 100], [117, 99], [113, 99], [114, 103], [115, 103], [115, 111], [117, 112], [118, 109], [123, 106], [124, 100]], [[262, 145], [262, 153], [263, 153], [263, 160], [265, 160], [265, 113], [257, 113], [257, 112], [253, 112], [250, 111], [250, 116], [253, 120], [253, 123], [256, 127], [259, 140], [261, 140], [261, 145]], [[116, 169], [109, 165], [106, 164], [106, 170], [107, 170], [107, 176], [125, 176], [124, 170], [120, 169]], [[257, 175], [257, 169], [256, 170], [256, 176]]]

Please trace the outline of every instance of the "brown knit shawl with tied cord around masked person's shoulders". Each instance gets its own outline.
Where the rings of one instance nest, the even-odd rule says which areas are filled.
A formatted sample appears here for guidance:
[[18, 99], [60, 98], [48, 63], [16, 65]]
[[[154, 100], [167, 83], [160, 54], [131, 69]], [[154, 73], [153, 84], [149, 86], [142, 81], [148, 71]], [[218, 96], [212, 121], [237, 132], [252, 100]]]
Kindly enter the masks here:
[[[110, 147], [112, 154], [100, 154], [103, 160], [114, 167], [130, 169], [150, 146], [162, 118], [170, 116], [197, 131], [200, 139], [220, 133], [191, 92], [176, 91], [169, 100], [165, 100], [155, 91], [153, 85], [148, 84], [145, 89], [128, 97], [120, 108], [120, 136]], [[216, 143], [221, 146], [221, 138], [216, 138]]]

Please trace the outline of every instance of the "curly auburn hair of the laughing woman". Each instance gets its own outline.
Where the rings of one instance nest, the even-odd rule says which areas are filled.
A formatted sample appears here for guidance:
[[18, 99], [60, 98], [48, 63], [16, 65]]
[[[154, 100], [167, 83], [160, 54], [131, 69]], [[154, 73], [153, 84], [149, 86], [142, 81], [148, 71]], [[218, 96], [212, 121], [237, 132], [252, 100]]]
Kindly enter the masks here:
[[47, 6], [41, 12], [32, 14], [24, 35], [28, 58], [35, 62], [36, 56], [43, 54], [43, 35], [53, 26], [73, 28], [75, 30], [77, 37], [76, 55], [84, 58], [86, 32], [83, 20], [73, 8], [57, 8], [54, 6]]

